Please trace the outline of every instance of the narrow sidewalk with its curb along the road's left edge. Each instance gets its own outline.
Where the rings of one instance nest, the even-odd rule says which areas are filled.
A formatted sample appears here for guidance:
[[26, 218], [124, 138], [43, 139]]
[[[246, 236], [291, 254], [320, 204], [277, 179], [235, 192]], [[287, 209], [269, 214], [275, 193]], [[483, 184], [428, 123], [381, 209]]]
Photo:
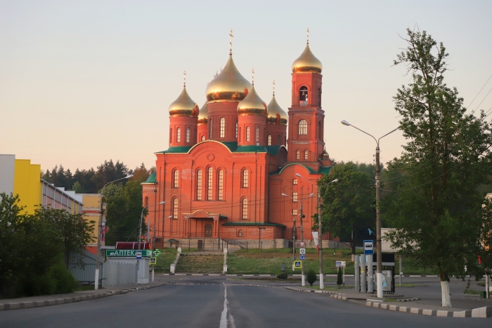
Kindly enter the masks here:
[[94, 298], [101, 298], [101, 297], [107, 297], [107, 296], [113, 296], [119, 294], [127, 294], [131, 291], [141, 291], [144, 289], [154, 288], [171, 283], [172, 282], [164, 281], [164, 279], [160, 279], [160, 281], [149, 282], [148, 284], [129, 284], [126, 286], [107, 287], [104, 289], [91, 290], [91, 291], [76, 291], [75, 293], [71, 293], [71, 294], [6, 298], [6, 299], [0, 299], [0, 311], [17, 310], [22, 308], [39, 308], [41, 306], [75, 303], [80, 301], [91, 300]]

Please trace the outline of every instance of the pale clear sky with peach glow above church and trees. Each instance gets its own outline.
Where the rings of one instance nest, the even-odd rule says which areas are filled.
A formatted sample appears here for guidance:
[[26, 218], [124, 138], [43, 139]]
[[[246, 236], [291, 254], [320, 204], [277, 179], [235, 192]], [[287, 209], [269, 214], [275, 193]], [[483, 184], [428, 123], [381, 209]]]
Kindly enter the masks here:
[[[446, 83], [470, 111], [492, 108], [490, 13], [485, 0], [0, 0], [0, 153], [42, 170], [110, 159], [150, 168], [154, 153], [168, 148], [168, 108], [183, 70], [201, 107], [207, 82], [228, 59], [232, 28], [235, 65], [248, 80], [254, 68], [266, 103], [275, 80], [287, 111], [291, 65], [309, 27], [323, 63], [326, 149], [337, 161], [372, 163], [375, 141], [340, 120], [376, 138], [399, 126], [392, 97], [410, 77], [393, 61], [407, 28], [444, 43]], [[384, 137], [382, 162], [399, 157], [405, 143], [399, 131]]]

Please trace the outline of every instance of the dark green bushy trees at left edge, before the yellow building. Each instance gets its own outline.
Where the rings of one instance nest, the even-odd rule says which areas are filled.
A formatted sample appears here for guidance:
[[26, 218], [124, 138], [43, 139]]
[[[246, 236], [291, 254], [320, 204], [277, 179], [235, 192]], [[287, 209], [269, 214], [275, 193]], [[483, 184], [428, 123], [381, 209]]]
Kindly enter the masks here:
[[66, 210], [37, 208], [22, 214], [18, 196], [0, 194], [0, 296], [74, 291], [70, 256], [92, 240], [93, 223]]

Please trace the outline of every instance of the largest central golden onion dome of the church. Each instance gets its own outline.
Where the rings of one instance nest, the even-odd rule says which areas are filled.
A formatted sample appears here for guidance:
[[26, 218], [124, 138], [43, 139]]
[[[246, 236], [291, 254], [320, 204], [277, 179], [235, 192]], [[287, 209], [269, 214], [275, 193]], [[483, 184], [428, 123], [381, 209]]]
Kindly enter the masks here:
[[235, 67], [229, 55], [226, 67], [207, 86], [208, 101], [242, 101], [251, 89], [251, 84]]

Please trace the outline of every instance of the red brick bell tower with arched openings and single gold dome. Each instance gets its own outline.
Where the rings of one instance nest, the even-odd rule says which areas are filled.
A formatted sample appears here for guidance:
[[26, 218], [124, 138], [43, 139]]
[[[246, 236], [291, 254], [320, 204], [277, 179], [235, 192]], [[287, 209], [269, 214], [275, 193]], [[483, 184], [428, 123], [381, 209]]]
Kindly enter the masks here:
[[[309, 30], [308, 30], [309, 33]], [[313, 170], [321, 166], [325, 112], [321, 109], [323, 65], [309, 49], [292, 63], [292, 106], [289, 108], [287, 161], [303, 163]]]

